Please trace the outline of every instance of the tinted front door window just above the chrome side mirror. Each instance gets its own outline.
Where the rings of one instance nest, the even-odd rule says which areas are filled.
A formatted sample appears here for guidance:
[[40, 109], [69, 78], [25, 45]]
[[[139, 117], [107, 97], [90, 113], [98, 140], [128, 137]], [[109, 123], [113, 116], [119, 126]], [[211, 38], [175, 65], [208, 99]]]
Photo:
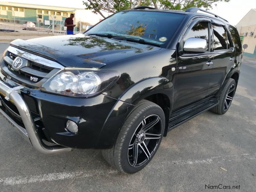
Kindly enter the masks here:
[[207, 50], [209, 47], [209, 29], [208, 21], [201, 21], [188, 30], [184, 36], [184, 43], [189, 38], [201, 38], [207, 41]]

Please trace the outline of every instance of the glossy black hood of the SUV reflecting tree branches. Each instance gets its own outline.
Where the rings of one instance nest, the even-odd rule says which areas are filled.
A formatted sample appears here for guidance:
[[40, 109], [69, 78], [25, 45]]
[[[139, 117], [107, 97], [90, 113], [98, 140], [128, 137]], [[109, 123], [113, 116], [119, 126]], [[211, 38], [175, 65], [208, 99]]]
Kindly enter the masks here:
[[85, 34], [14, 40], [11, 46], [54, 60], [64, 67], [100, 68], [136, 55], [155, 52], [160, 47]]

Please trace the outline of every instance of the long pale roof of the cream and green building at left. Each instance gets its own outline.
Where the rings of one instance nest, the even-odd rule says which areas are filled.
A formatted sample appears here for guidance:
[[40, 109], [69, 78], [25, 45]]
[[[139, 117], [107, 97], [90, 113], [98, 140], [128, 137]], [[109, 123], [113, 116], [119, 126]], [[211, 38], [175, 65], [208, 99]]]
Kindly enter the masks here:
[[7, 1], [1, 1], [0, 5], [10, 6], [10, 7], [30, 8], [30, 9], [54, 10], [54, 11], [63, 11], [63, 12], [75, 12], [76, 10], [81, 10], [81, 8], [14, 3], [14, 2], [7, 2]]

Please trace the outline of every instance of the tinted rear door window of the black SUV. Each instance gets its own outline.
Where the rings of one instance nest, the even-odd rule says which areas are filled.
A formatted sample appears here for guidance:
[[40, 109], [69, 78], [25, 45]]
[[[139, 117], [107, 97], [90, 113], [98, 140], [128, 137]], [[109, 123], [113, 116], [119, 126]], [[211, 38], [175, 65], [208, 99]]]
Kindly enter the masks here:
[[212, 24], [213, 29], [213, 51], [221, 49], [229, 49], [230, 42], [228, 42], [227, 32], [221, 25]]

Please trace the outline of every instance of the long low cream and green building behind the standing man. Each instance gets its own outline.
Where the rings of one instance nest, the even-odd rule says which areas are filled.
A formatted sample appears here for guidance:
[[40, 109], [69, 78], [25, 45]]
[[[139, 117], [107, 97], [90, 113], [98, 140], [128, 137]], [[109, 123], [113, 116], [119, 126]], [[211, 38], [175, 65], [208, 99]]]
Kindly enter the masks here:
[[36, 22], [40, 27], [49, 27], [46, 21], [54, 20], [56, 27], [64, 27], [64, 21], [70, 13], [75, 14], [75, 30], [85, 25], [94, 25], [102, 19], [100, 15], [82, 8], [68, 8], [50, 5], [23, 4], [13, 2], [0, 2], [0, 20], [3, 22], [14, 22], [24, 24], [26, 21]]

